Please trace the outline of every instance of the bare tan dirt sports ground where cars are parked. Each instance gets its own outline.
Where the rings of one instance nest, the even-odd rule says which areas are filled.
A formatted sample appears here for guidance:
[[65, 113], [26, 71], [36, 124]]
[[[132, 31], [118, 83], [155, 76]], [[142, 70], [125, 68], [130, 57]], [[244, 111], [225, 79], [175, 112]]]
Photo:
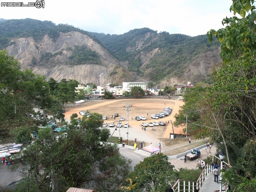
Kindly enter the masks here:
[[[102, 116], [107, 116], [108, 119], [104, 122], [111, 123], [120, 119], [120, 117], [124, 117], [124, 123], [127, 121], [127, 110], [124, 106], [127, 105], [127, 101], [129, 101], [128, 105], [130, 105], [131, 111], [129, 111], [129, 125], [137, 125], [140, 126], [141, 123], [146, 122], [154, 122], [154, 121], [164, 121], [164, 122], [174, 122], [174, 115], [178, 113], [180, 106], [184, 104], [183, 101], [176, 100], [158, 100], [158, 99], [126, 99], [126, 100], [88, 100], [84, 102], [84, 105], [80, 105], [74, 108], [69, 108], [65, 113], [65, 118], [70, 119], [71, 114], [77, 113], [82, 110], [89, 110], [91, 113], [100, 113]], [[151, 119], [151, 114], [160, 113], [164, 110], [165, 107], [171, 107], [172, 113], [164, 118], [160, 119]], [[118, 113], [119, 117], [114, 119], [114, 114]], [[148, 113], [148, 115], [147, 115]], [[111, 118], [113, 115], [113, 118]], [[146, 121], [136, 121], [134, 118], [136, 116], [145, 116]], [[133, 117], [133, 120], [132, 120]], [[176, 138], [175, 140], [170, 139], [170, 133], [173, 132], [171, 123], [167, 124], [167, 126], [155, 126], [153, 130], [151, 127], [147, 127], [147, 132], [150, 132], [153, 137], [161, 140], [165, 147], [174, 146], [178, 144], [182, 144], [187, 142], [187, 139]], [[174, 127], [174, 133], [184, 134], [183, 127]], [[192, 138], [193, 139], [193, 138]], [[197, 144], [198, 146], [198, 144]], [[190, 147], [191, 148], [191, 147]], [[181, 153], [184, 152], [182, 148]]]

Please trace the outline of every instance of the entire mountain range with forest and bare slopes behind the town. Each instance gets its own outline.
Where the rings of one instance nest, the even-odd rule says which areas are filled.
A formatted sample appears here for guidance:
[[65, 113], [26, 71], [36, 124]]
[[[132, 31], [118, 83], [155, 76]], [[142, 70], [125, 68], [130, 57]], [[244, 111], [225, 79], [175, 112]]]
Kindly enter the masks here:
[[30, 18], [0, 22], [0, 49], [14, 55], [22, 68], [55, 80], [149, 86], [195, 84], [219, 59], [219, 43], [206, 35], [190, 37], [149, 28], [121, 35], [80, 30], [71, 25]]

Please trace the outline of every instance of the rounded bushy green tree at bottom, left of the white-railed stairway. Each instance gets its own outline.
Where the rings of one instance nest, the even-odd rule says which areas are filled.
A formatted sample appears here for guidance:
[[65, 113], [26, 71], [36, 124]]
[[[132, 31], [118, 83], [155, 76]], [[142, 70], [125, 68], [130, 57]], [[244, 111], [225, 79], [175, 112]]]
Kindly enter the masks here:
[[[158, 186], [160, 191], [165, 191], [166, 188], [174, 185], [178, 177], [174, 165], [168, 162], [168, 157], [162, 153], [145, 158], [142, 162], [134, 167], [129, 175], [134, 192], [151, 190], [151, 185]], [[170, 186], [168, 186], [170, 185]]]

